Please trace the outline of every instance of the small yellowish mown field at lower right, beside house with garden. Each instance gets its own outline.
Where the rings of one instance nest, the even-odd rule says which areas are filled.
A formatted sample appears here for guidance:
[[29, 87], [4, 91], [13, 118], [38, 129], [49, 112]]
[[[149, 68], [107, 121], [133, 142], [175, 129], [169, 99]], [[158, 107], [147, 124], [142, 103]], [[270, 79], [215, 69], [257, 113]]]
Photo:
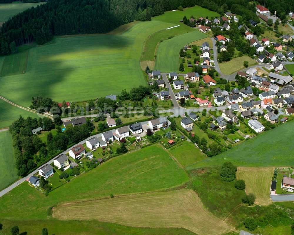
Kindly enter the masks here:
[[245, 192], [254, 193], [255, 203], [268, 206], [273, 201], [270, 199], [270, 184], [274, 167], [238, 167], [236, 178], [245, 180]]

